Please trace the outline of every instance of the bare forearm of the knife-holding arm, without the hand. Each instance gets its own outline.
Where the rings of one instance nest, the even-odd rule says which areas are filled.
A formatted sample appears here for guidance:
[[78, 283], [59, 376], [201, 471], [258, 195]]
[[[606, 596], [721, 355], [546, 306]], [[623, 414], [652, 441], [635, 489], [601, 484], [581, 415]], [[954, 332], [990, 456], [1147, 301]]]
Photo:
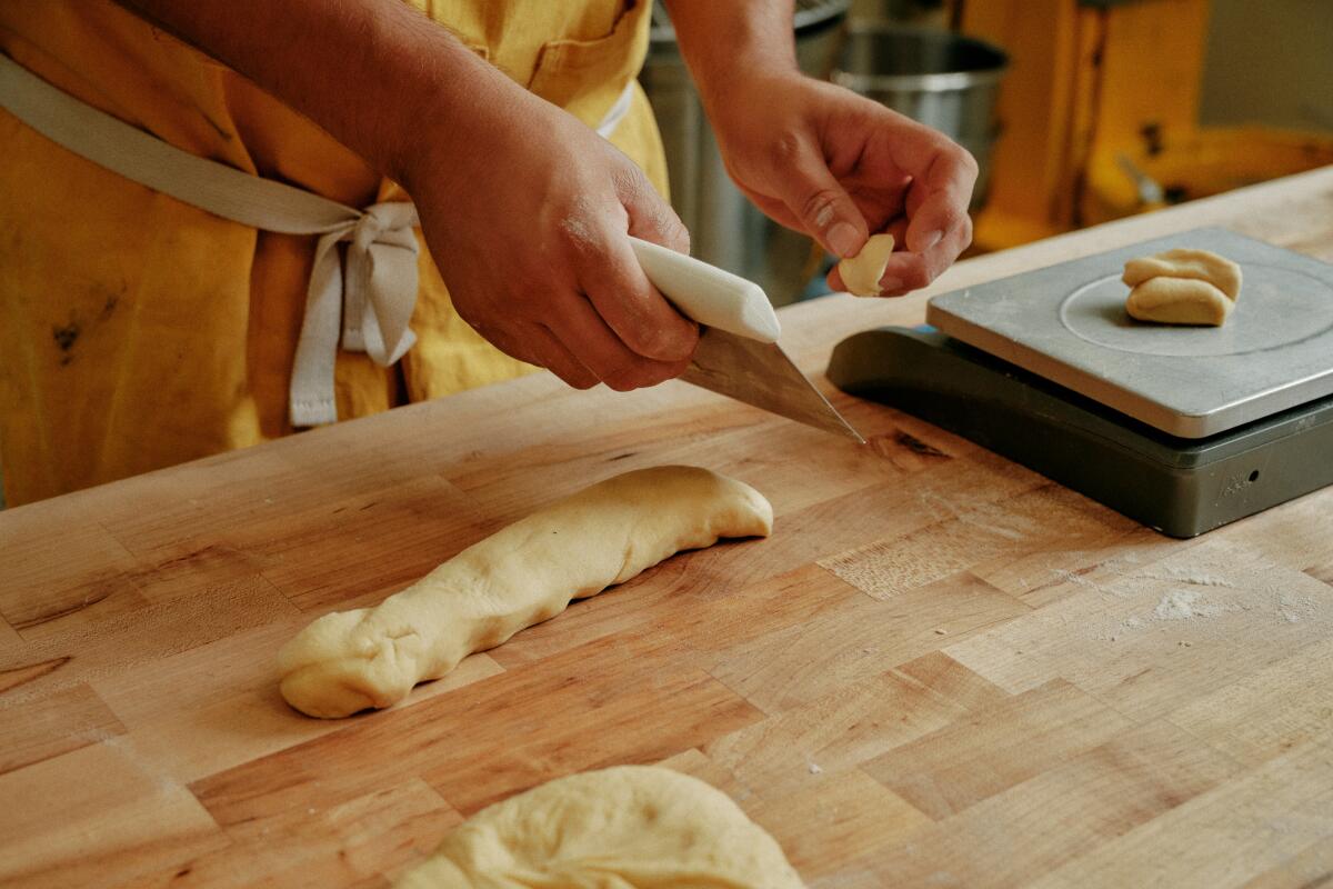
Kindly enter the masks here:
[[[476, 139], [519, 87], [401, 0], [117, 0], [249, 77], [404, 181], [427, 121]], [[463, 85], [465, 84], [465, 88]]]

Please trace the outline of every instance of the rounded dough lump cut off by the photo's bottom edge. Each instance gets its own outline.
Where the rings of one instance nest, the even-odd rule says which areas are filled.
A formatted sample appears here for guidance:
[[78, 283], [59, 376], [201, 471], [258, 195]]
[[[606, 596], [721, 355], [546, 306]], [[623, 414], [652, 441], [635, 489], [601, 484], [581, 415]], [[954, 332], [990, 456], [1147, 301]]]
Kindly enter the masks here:
[[801, 889], [730, 797], [661, 766], [557, 778], [455, 828], [395, 889]]

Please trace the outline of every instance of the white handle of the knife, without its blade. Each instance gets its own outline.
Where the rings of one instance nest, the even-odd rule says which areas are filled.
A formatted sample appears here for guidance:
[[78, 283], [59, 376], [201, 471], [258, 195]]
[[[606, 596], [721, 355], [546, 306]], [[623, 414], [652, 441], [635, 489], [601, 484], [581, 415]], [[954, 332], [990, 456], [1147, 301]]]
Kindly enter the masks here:
[[760, 343], [782, 332], [764, 288], [661, 244], [629, 239], [648, 280], [672, 304], [698, 321]]

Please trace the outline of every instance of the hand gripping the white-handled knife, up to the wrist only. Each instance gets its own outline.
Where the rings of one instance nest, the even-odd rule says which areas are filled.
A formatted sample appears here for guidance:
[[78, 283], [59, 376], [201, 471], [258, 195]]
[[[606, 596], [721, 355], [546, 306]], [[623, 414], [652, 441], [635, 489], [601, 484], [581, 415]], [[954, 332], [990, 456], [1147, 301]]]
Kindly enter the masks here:
[[[572, 387], [680, 376], [698, 327], [653, 288], [628, 235], [688, 252], [680, 219], [621, 152], [524, 91], [423, 127], [403, 184], [455, 309]], [[448, 132], [452, 131], [452, 132]], [[460, 140], [459, 133], [467, 139]]]

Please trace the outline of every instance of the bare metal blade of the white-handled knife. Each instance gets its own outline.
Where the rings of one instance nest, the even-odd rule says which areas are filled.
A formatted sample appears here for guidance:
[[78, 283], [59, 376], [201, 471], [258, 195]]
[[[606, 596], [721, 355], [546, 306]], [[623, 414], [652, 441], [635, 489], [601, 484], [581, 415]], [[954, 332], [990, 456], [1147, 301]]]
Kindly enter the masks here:
[[861, 433], [842, 419], [776, 343], [758, 343], [705, 327], [694, 360], [680, 379], [865, 444]]

